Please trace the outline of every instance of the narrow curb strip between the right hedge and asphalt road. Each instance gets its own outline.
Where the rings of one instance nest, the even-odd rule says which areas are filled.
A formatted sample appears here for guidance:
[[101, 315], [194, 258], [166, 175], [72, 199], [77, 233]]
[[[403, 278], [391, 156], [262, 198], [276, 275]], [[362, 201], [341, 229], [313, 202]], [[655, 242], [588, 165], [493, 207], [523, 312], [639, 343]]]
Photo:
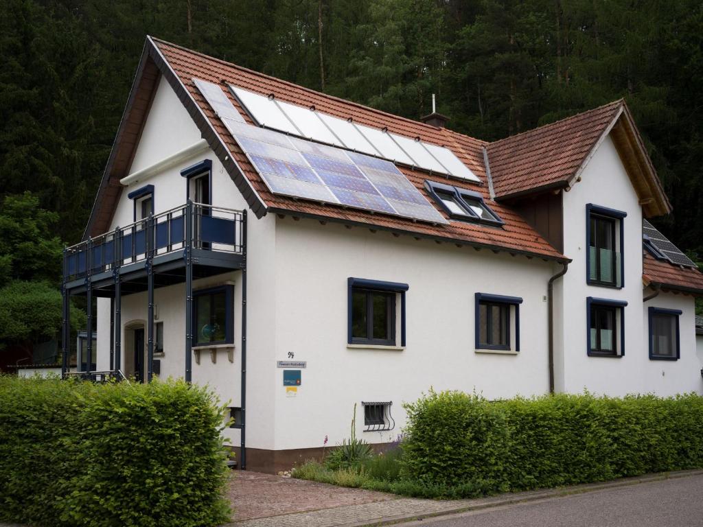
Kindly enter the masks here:
[[[564, 497], [576, 494], [585, 494], [603, 490], [607, 488], [617, 488], [626, 486], [635, 486], [642, 483], [652, 483], [654, 481], [664, 481], [667, 479], [685, 478], [689, 476], [698, 476], [703, 474], [703, 470], [681, 470], [672, 472], [660, 472], [657, 474], [645, 474], [643, 476], [634, 476], [632, 478], [622, 478], [612, 481], [603, 481], [601, 483], [584, 483], [582, 485], [550, 488], [545, 490], [528, 490], [524, 493], [512, 495], [499, 495], [496, 497], [478, 498], [477, 500], [462, 500], [460, 505], [457, 502], [457, 507], [449, 507], [442, 511], [427, 512], [427, 514], [412, 514], [408, 516], [388, 516], [372, 522], [361, 521], [358, 523], [347, 523], [343, 527], [380, 527], [404, 523], [408, 521], [418, 521], [423, 519], [437, 518], [439, 516], [449, 516], [451, 514], [460, 514], [462, 512], [477, 511], [482, 509], [491, 509], [494, 507], [502, 507], [505, 505], [515, 505], [517, 503], [527, 503], [538, 500], [546, 500], [550, 497]], [[475, 501], [476, 503], [467, 504], [467, 501]], [[340, 526], [342, 527], [342, 526]]]

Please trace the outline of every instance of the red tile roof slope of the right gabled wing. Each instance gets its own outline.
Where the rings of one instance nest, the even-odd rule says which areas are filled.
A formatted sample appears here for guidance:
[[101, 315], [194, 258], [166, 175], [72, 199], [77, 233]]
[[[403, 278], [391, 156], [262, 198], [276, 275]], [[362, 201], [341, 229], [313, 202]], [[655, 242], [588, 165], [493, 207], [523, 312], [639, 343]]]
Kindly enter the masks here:
[[518, 195], [568, 181], [623, 104], [623, 100], [616, 100], [491, 143], [489, 165], [496, 196]]

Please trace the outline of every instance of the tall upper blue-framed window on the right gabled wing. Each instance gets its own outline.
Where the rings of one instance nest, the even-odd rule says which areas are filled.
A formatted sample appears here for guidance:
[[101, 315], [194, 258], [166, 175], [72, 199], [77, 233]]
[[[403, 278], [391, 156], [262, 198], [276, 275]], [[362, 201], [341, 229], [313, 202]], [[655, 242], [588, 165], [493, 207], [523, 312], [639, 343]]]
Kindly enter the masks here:
[[603, 287], [624, 286], [624, 219], [626, 212], [586, 205], [586, 282]]

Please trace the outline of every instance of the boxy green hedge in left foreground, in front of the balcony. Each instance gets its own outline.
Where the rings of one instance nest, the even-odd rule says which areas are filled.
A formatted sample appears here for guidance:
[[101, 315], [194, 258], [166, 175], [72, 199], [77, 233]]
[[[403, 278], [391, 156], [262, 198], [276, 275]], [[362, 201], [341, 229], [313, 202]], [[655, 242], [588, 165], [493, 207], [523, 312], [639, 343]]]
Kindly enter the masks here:
[[182, 381], [0, 376], [0, 520], [214, 526], [228, 520], [222, 408]]

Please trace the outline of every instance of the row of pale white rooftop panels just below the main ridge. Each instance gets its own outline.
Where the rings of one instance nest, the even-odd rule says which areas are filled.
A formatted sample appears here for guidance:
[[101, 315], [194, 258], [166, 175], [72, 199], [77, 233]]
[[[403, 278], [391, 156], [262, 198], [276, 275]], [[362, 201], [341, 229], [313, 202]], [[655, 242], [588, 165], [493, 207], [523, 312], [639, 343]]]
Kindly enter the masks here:
[[259, 126], [439, 174], [479, 181], [449, 148], [373, 129], [236, 86], [229, 87]]

